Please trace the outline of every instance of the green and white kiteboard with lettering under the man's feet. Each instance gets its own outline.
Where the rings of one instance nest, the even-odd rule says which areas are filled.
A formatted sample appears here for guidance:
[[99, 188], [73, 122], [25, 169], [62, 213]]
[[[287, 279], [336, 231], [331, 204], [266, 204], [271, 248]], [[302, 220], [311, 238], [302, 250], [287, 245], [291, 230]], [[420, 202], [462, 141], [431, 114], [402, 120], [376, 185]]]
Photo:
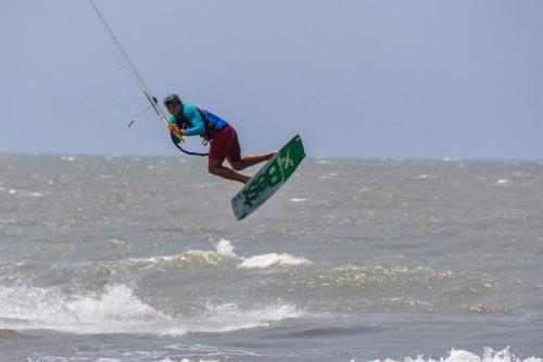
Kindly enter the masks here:
[[233, 197], [236, 219], [242, 220], [258, 209], [294, 173], [304, 158], [302, 139], [295, 135]]

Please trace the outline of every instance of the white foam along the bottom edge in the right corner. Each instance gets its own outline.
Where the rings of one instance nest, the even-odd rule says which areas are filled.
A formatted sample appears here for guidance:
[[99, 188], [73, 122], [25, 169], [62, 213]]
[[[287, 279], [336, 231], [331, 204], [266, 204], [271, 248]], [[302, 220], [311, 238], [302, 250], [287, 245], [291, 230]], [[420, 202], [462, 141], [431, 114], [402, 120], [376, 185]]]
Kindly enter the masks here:
[[485, 348], [482, 355], [462, 349], [453, 349], [447, 357], [442, 357], [439, 360], [418, 355], [417, 358], [404, 357], [399, 361], [384, 359], [374, 360], [372, 362], [542, 362], [542, 359], [536, 357], [522, 359], [513, 354], [508, 348], [501, 351], [494, 351], [491, 348]]

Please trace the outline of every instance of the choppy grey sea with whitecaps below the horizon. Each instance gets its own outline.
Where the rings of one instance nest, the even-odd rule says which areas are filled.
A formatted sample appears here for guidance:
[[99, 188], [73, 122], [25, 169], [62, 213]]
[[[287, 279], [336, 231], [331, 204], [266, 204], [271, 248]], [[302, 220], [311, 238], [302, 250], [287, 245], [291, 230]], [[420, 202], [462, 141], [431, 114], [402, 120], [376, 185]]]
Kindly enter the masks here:
[[0, 157], [0, 361], [542, 361], [543, 162], [308, 159], [241, 222], [239, 189]]

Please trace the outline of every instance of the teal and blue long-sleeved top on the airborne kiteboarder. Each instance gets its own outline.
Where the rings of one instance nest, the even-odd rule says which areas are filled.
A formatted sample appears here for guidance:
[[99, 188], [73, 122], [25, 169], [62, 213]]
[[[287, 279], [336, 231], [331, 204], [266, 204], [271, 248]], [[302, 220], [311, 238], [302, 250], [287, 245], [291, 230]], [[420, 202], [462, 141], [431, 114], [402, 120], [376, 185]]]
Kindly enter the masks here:
[[[193, 104], [184, 104], [182, 115], [169, 117], [169, 122], [177, 125], [178, 127], [186, 128], [187, 136], [210, 136], [210, 132], [216, 133], [217, 130], [226, 127], [228, 123], [216, 116], [215, 114], [203, 111], [203, 117], [200, 110]], [[213, 137], [213, 135], [211, 135]]]

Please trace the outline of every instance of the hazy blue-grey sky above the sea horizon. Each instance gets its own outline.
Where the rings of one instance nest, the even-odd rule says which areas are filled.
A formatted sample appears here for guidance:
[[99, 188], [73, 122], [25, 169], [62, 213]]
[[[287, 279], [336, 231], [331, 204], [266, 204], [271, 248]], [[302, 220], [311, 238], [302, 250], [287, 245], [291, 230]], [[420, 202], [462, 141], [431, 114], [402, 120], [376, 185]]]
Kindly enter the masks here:
[[[245, 153], [543, 159], [543, 1], [97, 0]], [[84, 0], [0, 3], [0, 153], [178, 152]], [[109, 50], [110, 49], [110, 50]]]

